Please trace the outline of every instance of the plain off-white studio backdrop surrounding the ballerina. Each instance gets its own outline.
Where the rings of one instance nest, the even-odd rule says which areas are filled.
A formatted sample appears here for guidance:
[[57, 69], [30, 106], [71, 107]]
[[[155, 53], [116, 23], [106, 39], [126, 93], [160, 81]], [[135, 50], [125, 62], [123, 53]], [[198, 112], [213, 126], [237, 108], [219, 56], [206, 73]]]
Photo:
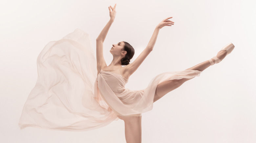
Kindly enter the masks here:
[[255, 6], [253, 0], [11, 0], [0, 5], [0, 141], [26, 143], [125, 143], [124, 122], [85, 132], [50, 131], [18, 121], [37, 80], [36, 59], [49, 41], [79, 28], [96, 38], [116, 19], [104, 42], [109, 50], [119, 41], [135, 48], [133, 62], [153, 31], [167, 17], [173, 26], [160, 29], [153, 51], [129, 78], [126, 88], [139, 90], [166, 71], [181, 71], [216, 56], [232, 42], [223, 61], [205, 69], [154, 103], [142, 114], [142, 143], [255, 143]]

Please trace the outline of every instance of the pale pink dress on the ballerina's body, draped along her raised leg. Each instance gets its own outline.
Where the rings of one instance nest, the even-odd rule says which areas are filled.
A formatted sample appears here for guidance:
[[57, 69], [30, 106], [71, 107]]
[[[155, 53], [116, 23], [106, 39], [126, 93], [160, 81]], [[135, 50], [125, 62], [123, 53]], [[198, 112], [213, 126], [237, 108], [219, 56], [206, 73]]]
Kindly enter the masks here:
[[[141, 116], [142, 113], [153, 109], [153, 100], [158, 84], [163, 81], [194, 78], [202, 71], [184, 70], [163, 72], [155, 76], [145, 89], [130, 90], [125, 88], [125, 80], [121, 74], [111, 71], [102, 71], [97, 76], [99, 96], [119, 116]], [[118, 88], [120, 88], [118, 90]]]

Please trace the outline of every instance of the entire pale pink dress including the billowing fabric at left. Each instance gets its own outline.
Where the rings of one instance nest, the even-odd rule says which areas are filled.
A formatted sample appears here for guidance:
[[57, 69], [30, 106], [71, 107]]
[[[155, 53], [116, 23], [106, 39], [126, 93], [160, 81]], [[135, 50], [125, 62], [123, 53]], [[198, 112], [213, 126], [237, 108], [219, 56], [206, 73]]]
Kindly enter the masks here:
[[156, 87], [163, 81], [193, 78], [202, 71], [164, 72], [146, 89], [125, 88], [128, 79], [103, 71], [97, 75], [89, 35], [75, 29], [50, 41], [37, 58], [38, 78], [23, 107], [20, 129], [87, 131], [108, 125], [119, 116], [141, 116], [152, 110]]

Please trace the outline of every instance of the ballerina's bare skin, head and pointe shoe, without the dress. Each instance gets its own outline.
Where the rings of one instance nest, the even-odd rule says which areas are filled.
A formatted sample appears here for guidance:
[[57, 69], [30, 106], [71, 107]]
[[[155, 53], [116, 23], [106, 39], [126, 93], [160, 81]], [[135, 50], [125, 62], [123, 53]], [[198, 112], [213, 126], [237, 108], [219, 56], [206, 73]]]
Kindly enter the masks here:
[[[172, 17], [168, 17], [162, 20], [155, 28], [155, 31], [147, 45], [147, 47], [141, 52], [141, 54], [134, 60], [134, 62], [129, 63], [130, 59], [134, 55], [134, 48], [125, 41], [120, 41], [117, 44], [113, 44], [110, 49], [110, 53], [113, 55], [112, 62], [107, 66], [104, 57], [103, 57], [103, 42], [106, 38], [108, 30], [111, 24], [115, 20], [116, 16], [116, 4], [114, 8], [112, 6], [109, 7], [110, 12], [110, 20], [103, 28], [101, 33], [96, 39], [96, 56], [97, 56], [97, 71], [98, 74], [101, 71], [109, 71], [114, 73], [119, 73], [125, 79], [129, 79], [129, 77], [139, 68], [140, 64], [144, 61], [144, 59], [152, 52], [153, 47], [156, 43], [157, 36], [159, 30], [164, 26], [172, 26], [174, 25], [173, 21], [170, 21]], [[226, 55], [228, 55], [234, 49], [234, 45], [229, 43], [225, 45], [221, 51], [218, 52], [217, 56], [212, 57], [209, 60], [206, 60], [202, 63], [199, 63], [191, 68], [186, 70], [196, 70], [203, 71], [211, 65], [219, 63], [224, 59]], [[122, 67], [122, 65], [126, 65]], [[192, 77], [194, 78], [194, 77]], [[166, 95], [168, 92], [180, 87], [184, 82], [192, 79], [192, 78], [181, 78], [181, 79], [173, 79], [166, 80], [159, 83], [155, 90], [155, 95], [153, 102], [156, 102], [161, 97]], [[102, 93], [104, 94], [104, 93]], [[104, 95], [103, 95], [104, 96]], [[119, 119], [122, 119], [125, 123], [125, 139], [127, 143], [140, 143], [141, 142], [141, 117], [142, 116], [122, 116], [117, 115]]]

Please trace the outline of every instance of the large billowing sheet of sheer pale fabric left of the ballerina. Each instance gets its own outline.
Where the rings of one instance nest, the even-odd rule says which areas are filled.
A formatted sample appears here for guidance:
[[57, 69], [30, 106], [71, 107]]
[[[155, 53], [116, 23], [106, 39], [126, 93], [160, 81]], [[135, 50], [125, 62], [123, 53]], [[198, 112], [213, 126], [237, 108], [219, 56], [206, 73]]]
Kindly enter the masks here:
[[19, 127], [87, 131], [118, 120], [94, 98], [96, 58], [80, 29], [50, 41], [37, 57], [38, 78], [23, 107]]

